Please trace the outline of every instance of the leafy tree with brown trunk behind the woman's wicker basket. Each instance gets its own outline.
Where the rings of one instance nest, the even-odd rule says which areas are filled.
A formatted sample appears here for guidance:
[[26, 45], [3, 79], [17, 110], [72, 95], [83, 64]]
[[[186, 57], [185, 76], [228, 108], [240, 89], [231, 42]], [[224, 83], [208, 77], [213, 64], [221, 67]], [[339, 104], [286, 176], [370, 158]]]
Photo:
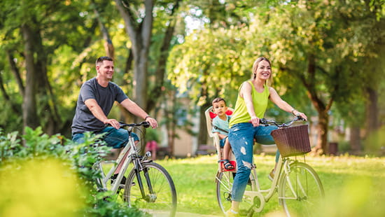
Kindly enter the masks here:
[[360, 57], [373, 51], [368, 35], [377, 43], [383, 38], [376, 30], [381, 20], [375, 21], [381, 4], [371, 8], [374, 2], [293, 1], [271, 10], [268, 19], [260, 18], [265, 20], [262, 28], [270, 31], [272, 56], [279, 62], [281, 76], [299, 78], [318, 112], [321, 137], [316, 149], [321, 153], [328, 150], [328, 112], [333, 102], [349, 102], [359, 90], [356, 87], [362, 87], [364, 68], [355, 67]]

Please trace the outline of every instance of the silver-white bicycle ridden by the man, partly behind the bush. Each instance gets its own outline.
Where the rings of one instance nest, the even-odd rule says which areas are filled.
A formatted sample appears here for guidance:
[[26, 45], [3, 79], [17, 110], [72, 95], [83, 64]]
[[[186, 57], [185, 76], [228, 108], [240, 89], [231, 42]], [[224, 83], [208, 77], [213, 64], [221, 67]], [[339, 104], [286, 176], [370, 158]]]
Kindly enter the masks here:
[[[97, 179], [97, 188], [101, 191], [111, 190], [114, 194], [118, 193], [122, 195], [123, 201], [129, 207], [137, 207], [153, 216], [175, 216], [176, 190], [174, 181], [164, 167], [148, 160], [151, 157], [150, 152], [144, 156], [139, 155], [132, 137], [132, 130], [139, 126], [149, 127], [150, 124], [148, 122], [120, 123], [120, 127], [127, 128], [129, 141], [107, 174], [103, 170], [103, 161], [94, 165], [94, 169], [99, 169], [102, 175], [100, 179]], [[111, 176], [122, 160], [124, 160], [123, 167], [108, 188], [107, 183], [111, 180]], [[130, 163], [132, 163], [132, 169], [123, 186], [120, 182]], [[120, 193], [120, 190], [123, 190], [123, 193]]]

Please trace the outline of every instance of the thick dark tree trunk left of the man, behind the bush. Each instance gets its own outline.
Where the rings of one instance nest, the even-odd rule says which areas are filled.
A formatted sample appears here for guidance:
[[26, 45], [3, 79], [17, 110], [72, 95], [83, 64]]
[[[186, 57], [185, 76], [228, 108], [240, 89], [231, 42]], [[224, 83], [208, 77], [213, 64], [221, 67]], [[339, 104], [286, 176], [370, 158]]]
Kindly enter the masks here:
[[[55, 134], [60, 129], [55, 97], [47, 76], [47, 55], [43, 48], [41, 32], [25, 24], [22, 36], [25, 41], [25, 62], [27, 69], [25, 97], [23, 101], [24, 126], [36, 128], [42, 125], [47, 134]], [[37, 100], [39, 99], [39, 100]], [[38, 116], [38, 114], [41, 114]]]

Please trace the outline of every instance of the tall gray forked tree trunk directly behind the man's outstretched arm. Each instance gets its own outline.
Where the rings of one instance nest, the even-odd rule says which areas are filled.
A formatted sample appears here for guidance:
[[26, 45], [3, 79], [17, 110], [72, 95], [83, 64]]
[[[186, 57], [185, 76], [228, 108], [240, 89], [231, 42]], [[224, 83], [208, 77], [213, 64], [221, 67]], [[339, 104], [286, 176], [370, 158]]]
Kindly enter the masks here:
[[[179, 0], [176, 1], [121, 1], [116, 0], [116, 6], [125, 21], [127, 35], [130, 36], [132, 44], [132, 57], [134, 61], [134, 100], [145, 110], [151, 110], [155, 107], [162, 92], [162, 86], [165, 80], [165, 59], [167, 59], [172, 36], [174, 35], [175, 17], [174, 13], [179, 8]], [[169, 21], [165, 29], [163, 43], [160, 46], [160, 57], [158, 67], [155, 71], [155, 80], [157, 82], [153, 89], [148, 91], [148, 62], [149, 52], [152, 45], [151, 36], [154, 31], [153, 13], [164, 13], [169, 16]], [[148, 93], [151, 97], [148, 98]]]

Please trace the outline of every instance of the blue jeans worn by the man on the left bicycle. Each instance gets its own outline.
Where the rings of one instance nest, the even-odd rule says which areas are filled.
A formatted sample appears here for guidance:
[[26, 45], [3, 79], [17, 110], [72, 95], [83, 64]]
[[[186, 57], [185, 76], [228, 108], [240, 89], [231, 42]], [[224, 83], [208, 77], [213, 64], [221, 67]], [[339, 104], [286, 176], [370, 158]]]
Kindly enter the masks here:
[[[111, 146], [113, 148], [123, 148], [128, 142], [128, 132], [124, 129], [116, 129], [114, 127], [104, 127], [103, 130], [93, 132], [94, 134], [102, 134], [106, 133], [103, 137], [103, 140], [106, 142], [107, 146]], [[132, 137], [134, 137], [134, 141], [139, 141], [139, 137], [135, 133], [131, 133]], [[72, 135], [72, 141], [81, 144], [84, 142], [84, 134], [78, 133]]]

